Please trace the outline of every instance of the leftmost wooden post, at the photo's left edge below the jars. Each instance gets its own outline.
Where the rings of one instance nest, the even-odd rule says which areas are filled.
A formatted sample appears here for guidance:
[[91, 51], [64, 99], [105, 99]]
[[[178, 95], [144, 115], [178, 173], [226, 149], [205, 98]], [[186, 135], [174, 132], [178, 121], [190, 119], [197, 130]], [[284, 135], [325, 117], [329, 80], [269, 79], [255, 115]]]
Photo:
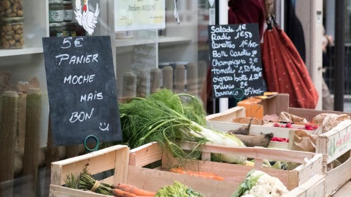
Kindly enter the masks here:
[[12, 196], [13, 177], [15, 172], [15, 141], [18, 116], [18, 94], [6, 91], [2, 96], [2, 117], [0, 136], [0, 183], [9, 181], [1, 188], [0, 196]]

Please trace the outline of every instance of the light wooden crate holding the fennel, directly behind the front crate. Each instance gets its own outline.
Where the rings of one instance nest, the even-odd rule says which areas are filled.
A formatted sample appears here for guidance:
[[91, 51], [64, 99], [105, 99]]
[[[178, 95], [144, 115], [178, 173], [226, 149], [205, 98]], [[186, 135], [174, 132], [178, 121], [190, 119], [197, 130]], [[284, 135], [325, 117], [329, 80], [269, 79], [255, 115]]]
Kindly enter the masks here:
[[[186, 143], [182, 146], [184, 150], [190, 150], [195, 144]], [[231, 163], [210, 161], [211, 153], [235, 153], [241, 156], [247, 156], [255, 159], [254, 166], [248, 167]], [[291, 171], [262, 168], [263, 159], [282, 160], [302, 163], [296, 169]], [[306, 162], [306, 159], [308, 162]], [[179, 159], [169, 156], [162, 151], [157, 143], [150, 143], [131, 150], [129, 164], [136, 167], [144, 167], [150, 163], [162, 160], [159, 170], [169, 170], [169, 167], [177, 166]], [[186, 160], [182, 166], [185, 169], [202, 172], [212, 172], [218, 176], [222, 176], [225, 181], [232, 182], [232, 185], [239, 185], [245, 178], [246, 174], [252, 170], [260, 170], [267, 174], [277, 177], [289, 189], [299, 187], [306, 183], [314, 175], [322, 174], [321, 154], [291, 151], [289, 155], [284, 150], [265, 149], [265, 148], [229, 148], [206, 144], [202, 148], [202, 161]]]

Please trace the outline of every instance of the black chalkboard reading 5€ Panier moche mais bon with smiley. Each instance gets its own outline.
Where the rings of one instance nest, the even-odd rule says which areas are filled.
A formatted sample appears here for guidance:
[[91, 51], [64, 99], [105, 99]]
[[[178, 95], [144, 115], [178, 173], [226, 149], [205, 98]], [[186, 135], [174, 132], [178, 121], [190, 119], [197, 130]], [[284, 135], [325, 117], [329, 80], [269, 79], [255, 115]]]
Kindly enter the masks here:
[[43, 38], [54, 146], [122, 140], [110, 37]]

